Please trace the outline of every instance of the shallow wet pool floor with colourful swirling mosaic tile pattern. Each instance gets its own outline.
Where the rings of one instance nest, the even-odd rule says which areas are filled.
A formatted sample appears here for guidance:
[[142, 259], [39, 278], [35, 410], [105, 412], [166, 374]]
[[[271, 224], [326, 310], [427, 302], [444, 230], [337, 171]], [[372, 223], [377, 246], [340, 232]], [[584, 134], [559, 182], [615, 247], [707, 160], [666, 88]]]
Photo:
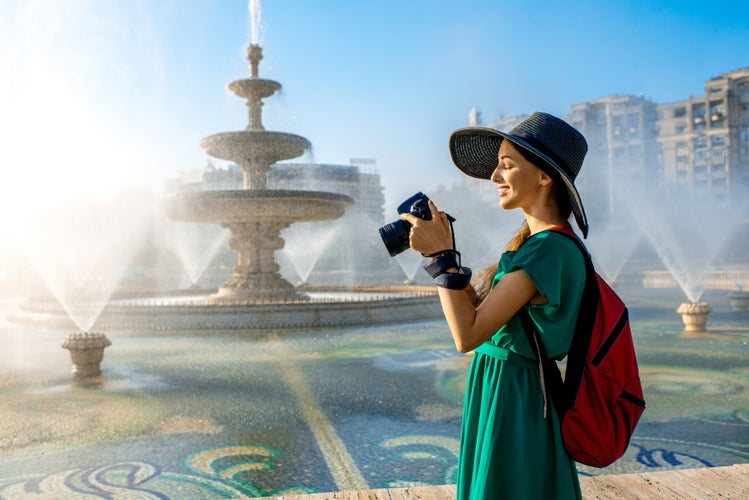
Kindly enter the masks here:
[[[749, 314], [622, 290], [648, 409], [626, 455], [582, 474], [749, 462]], [[12, 303], [0, 304], [3, 317]], [[440, 320], [262, 337], [106, 332], [75, 383], [70, 332], [0, 324], [0, 498], [237, 498], [451, 484], [467, 357]]]

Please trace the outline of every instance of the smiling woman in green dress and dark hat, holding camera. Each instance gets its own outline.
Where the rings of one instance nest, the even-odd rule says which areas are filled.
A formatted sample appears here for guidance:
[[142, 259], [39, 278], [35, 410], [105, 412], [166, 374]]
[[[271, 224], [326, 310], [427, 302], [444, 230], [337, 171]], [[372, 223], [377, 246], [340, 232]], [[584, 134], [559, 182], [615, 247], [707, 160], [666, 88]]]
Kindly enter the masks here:
[[574, 185], [587, 152], [585, 138], [563, 120], [534, 113], [509, 133], [467, 128], [450, 137], [453, 162], [491, 179], [504, 209], [525, 215], [521, 231], [488, 279], [474, 289], [460, 266], [452, 227], [430, 201], [432, 220], [410, 214], [410, 245], [431, 257], [455, 346], [474, 350], [466, 382], [457, 478], [459, 499], [580, 498], [575, 464], [564, 450], [559, 418], [544, 418], [533, 349], [519, 317], [526, 308], [549, 357], [562, 359], [575, 331], [585, 263], [575, 243], [551, 229], [587, 236]]

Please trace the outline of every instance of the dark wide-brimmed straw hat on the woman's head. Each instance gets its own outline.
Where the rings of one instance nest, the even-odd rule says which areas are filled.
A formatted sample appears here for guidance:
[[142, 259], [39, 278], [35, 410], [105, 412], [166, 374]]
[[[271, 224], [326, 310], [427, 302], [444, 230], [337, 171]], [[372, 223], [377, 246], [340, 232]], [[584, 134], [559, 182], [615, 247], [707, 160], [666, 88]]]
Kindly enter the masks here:
[[572, 125], [548, 113], [535, 112], [509, 132], [487, 127], [468, 127], [450, 136], [450, 156], [463, 173], [478, 179], [490, 179], [497, 168], [497, 154], [504, 139], [539, 158], [538, 167], [554, 170], [564, 182], [572, 213], [583, 237], [588, 236], [585, 215], [575, 178], [588, 152], [585, 137]]

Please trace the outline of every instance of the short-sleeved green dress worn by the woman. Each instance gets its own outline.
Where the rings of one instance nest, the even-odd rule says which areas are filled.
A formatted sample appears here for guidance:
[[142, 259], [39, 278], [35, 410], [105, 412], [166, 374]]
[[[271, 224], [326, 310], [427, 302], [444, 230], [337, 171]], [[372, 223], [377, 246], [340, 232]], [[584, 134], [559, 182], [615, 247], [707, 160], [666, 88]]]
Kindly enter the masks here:
[[[553, 231], [505, 252], [496, 283], [522, 269], [546, 304], [531, 305], [549, 357], [569, 349], [585, 284], [574, 242]], [[457, 492], [460, 500], [581, 498], [575, 463], [564, 450], [559, 417], [543, 416], [538, 365], [516, 315], [479, 346], [466, 382]]]

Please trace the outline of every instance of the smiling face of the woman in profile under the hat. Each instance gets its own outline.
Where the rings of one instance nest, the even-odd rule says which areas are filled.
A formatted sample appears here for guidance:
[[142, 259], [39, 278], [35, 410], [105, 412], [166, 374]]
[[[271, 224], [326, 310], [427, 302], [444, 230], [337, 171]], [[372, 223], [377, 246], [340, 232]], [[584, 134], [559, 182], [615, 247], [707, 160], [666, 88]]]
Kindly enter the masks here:
[[497, 168], [491, 181], [499, 191], [499, 206], [510, 210], [513, 208], [528, 209], [538, 201], [541, 186], [549, 177], [529, 162], [510, 141], [504, 140], [497, 155]]

